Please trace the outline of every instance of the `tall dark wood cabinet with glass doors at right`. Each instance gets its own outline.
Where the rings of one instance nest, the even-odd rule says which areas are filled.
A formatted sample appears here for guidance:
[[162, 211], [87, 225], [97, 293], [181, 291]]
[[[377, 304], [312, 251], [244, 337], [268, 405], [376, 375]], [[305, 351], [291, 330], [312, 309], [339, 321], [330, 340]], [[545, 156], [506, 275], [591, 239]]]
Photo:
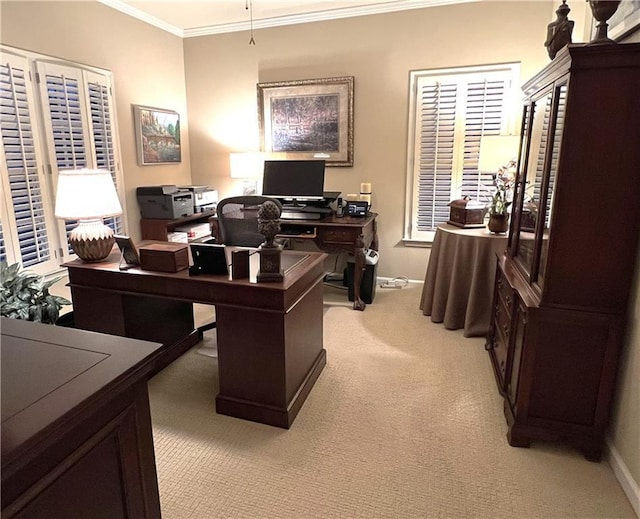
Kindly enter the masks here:
[[524, 85], [487, 350], [508, 440], [600, 459], [640, 219], [640, 44], [569, 45]]

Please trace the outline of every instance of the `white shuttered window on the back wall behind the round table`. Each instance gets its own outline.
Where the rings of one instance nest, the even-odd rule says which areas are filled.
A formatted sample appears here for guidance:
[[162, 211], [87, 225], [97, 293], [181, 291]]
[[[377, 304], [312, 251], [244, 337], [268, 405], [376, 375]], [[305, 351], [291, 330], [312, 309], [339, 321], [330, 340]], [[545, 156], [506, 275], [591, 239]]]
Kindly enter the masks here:
[[431, 242], [463, 196], [487, 200], [480, 138], [513, 133], [518, 64], [412, 71], [405, 243]]

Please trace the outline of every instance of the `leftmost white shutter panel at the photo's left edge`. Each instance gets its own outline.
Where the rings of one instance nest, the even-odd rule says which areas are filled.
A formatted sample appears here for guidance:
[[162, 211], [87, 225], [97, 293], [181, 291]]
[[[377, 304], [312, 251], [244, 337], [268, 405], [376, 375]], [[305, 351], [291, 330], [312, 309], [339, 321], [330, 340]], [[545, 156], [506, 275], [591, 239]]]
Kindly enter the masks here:
[[2, 235], [0, 258], [37, 273], [57, 266], [50, 242], [55, 220], [39, 154], [28, 60], [2, 54]]

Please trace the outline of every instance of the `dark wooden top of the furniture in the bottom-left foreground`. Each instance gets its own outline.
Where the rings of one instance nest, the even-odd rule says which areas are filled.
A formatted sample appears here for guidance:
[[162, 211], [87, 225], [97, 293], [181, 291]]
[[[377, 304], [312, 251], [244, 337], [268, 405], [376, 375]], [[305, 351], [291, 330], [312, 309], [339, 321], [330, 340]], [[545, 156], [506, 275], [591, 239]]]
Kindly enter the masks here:
[[[161, 344], [2, 318], [2, 463], [89, 398], [146, 376]], [[121, 386], [122, 387], [122, 386]]]

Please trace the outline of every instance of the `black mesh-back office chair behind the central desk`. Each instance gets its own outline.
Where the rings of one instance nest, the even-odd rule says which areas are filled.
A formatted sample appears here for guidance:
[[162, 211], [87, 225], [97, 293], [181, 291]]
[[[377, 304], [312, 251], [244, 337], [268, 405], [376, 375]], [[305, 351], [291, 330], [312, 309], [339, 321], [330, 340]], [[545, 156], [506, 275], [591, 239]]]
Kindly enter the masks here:
[[[282, 204], [268, 196], [232, 196], [220, 200], [216, 209], [220, 243], [239, 247], [258, 247], [264, 242], [264, 236], [258, 231], [258, 211], [267, 200], [275, 203], [282, 211]], [[215, 327], [214, 321], [200, 326], [198, 331], [202, 333]]]

